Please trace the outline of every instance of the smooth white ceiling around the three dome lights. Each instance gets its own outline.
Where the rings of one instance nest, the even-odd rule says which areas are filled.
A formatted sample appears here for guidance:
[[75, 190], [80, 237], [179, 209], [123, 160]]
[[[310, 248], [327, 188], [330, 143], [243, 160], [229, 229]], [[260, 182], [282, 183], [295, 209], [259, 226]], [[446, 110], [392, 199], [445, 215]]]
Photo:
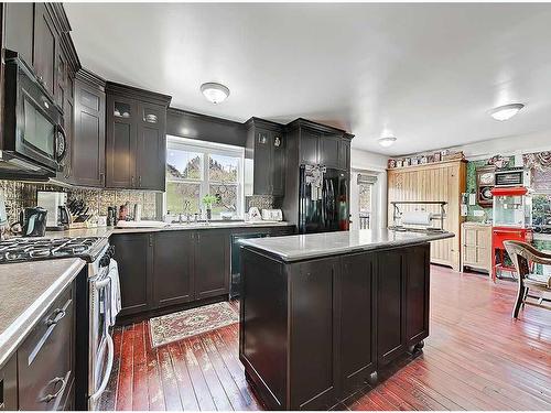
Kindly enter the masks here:
[[[551, 4], [65, 3], [83, 65], [245, 121], [341, 126], [390, 155], [551, 130]], [[219, 81], [214, 106], [199, 93]], [[495, 106], [520, 101], [498, 122]], [[376, 140], [392, 133], [382, 149]]]

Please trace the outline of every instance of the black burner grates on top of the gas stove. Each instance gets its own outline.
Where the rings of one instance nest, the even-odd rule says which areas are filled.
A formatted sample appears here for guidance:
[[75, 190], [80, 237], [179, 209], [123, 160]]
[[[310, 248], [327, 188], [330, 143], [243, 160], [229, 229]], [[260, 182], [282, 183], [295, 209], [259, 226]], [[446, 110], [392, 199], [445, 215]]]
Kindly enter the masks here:
[[0, 263], [72, 257], [88, 259], [99, 252], [102, 240], [98, 237], [11, 238], [0, 241]]

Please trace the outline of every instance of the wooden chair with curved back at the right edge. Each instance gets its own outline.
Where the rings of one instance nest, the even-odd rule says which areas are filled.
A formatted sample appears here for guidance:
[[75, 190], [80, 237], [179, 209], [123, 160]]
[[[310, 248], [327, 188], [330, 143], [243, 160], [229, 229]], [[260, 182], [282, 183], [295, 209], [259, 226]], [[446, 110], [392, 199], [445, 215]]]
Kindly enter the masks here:
[[[551, 303], [551, 300], [545, 297], [545, 293], [551, 294], [551, 275], [540, 275], [533, 272], [533, 264], [551, 265], [551, 254], [521, 241], [505, 241], [504, 246], [518, 273], [518, 294], [512, 317], [518, 317], [520, 307], [525, 304], [551, 309], [550, 305], [544, 304]], [[540, 295], [532, 295], [529, 291], [537, 291]], [[528, 298], [533, 298], [536, 302], [527, 301]]]

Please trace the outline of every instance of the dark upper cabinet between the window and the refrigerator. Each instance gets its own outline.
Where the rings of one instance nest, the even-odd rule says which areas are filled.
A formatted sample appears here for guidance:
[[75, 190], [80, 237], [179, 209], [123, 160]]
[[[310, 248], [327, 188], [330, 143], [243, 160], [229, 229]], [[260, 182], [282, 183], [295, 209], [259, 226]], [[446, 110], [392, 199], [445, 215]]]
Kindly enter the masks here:
[[283, 126], [259, 118], [246, 123], [246, 156], [253, 160], [252, 193], [282, 196], [285, 192], [285, 135]]

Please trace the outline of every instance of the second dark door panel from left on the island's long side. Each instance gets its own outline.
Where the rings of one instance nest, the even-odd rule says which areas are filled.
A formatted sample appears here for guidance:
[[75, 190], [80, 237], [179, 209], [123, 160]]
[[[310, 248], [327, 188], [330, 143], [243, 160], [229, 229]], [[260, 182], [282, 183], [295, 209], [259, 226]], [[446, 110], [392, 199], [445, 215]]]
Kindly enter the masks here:
[[343, 257], [337, 280], [341, 306], [341, 374], [343, 391], [364, 387], [377, 366], [375, 341], [375, 254]]

